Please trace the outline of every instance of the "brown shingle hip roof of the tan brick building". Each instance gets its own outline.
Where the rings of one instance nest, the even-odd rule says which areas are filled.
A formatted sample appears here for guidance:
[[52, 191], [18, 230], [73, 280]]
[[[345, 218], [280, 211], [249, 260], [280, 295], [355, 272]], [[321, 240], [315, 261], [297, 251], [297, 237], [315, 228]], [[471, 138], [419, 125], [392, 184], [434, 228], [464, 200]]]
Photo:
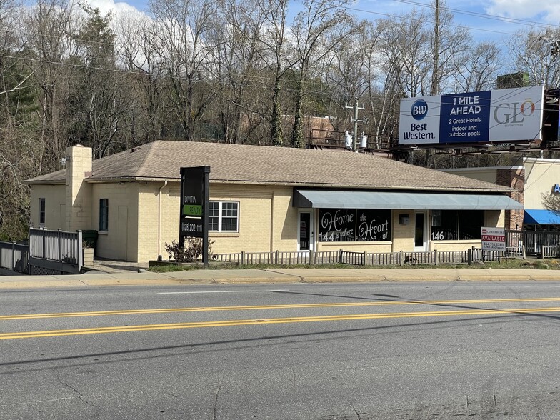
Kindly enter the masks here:
[[[88, 181], [179, 181], [181, 166], [211, 166], [211, 182], [357, 189], [508, 191], [504, 186], [399, 161], [351, 153], [239, 144], [154, 141], [93, 162]], [[64, 182], [64, 170], [29, 184]]]

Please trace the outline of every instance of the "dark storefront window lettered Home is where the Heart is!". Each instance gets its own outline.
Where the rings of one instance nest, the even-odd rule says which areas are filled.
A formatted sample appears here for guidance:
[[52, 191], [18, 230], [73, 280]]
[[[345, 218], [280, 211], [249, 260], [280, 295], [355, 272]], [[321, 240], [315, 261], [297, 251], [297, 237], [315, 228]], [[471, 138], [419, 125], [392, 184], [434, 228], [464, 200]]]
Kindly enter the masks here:
[[391, 241], [391, 210], [319, 209], [319, 241]]

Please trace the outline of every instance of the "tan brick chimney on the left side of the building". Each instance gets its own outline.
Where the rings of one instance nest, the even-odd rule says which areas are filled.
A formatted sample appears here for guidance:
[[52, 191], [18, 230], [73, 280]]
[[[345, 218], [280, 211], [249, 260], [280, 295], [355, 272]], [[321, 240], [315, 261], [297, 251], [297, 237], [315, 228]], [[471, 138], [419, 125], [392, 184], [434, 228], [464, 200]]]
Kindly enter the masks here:
[[66, 149], [66, 230], [91, 229], [91, 147], [78, 144]]

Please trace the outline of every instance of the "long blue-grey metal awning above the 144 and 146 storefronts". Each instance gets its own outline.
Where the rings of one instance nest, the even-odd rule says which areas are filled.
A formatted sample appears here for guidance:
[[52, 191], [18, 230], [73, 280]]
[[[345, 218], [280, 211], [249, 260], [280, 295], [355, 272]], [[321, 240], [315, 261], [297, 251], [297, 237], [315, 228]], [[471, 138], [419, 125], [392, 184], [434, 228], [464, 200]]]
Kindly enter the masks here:
[[294, 207], [313, 209], [519, 210], [501, 194], [436, 194], [385, 191], [294, 190]]

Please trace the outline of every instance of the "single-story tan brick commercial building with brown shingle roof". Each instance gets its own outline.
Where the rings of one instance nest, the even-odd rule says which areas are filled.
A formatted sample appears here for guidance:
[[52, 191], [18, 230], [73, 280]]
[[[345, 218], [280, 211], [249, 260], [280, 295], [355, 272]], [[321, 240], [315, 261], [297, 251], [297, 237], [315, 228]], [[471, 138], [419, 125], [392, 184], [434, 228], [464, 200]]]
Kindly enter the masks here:
[[124, 261], [166, 259], [179, 239], [181, 167], [210, 166], [214, 253], [464, 250], [523, 208], [510, 186], [351, 151], [154, 141], [65, 159], [27, 181], [31, 224], [95, 229], [96, 255]]

